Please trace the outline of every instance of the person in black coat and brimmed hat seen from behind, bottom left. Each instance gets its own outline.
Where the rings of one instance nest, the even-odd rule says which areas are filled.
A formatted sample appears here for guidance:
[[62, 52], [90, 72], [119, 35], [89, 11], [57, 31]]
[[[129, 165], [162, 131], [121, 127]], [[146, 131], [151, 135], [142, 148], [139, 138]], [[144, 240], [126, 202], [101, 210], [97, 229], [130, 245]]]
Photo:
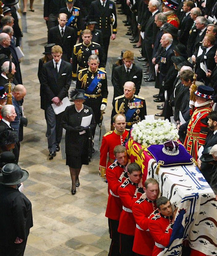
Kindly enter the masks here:
[[33, 226], [31, 202], [17, 185], [28, 178], [26, 170], [14, 163], [2, 167], [0, 174], [0, 255], [23, 256], [29, 230]]

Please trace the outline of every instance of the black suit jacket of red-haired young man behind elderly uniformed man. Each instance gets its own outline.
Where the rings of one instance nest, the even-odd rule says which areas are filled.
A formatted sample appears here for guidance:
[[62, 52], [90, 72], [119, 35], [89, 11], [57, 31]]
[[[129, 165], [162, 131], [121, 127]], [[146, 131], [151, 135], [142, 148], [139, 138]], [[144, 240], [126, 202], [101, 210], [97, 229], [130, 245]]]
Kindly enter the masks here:
[[113, 77], [113, 87], [114, 87], [114, 97], [120, 96], [123, 94], [123, 86], [125, 82], [131, 81], [136, 85], [135, 94], [138, 95], [140, 91], [140, 86], [142, 83], [142, 69], [137, 67], [135, 64], [132, 65], [132, 69], [130, 71], [130, 76], [128, 78], [127, 72], [124, 64], [118, 66], [114, 69], [114, 77]]

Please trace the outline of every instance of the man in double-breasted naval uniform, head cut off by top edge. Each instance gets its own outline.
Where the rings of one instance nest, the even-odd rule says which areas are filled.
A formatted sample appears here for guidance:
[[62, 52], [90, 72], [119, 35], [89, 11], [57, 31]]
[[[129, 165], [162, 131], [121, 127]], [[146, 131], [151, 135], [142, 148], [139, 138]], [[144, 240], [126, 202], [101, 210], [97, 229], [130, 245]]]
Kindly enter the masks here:
[[[95, 0], [90, 5], [90, 13], [98, 23], [95, 27], [102, 31], [103, 46], [105, 50], [105, 63], [107, 61], [108, 47], [111, 40], [115, 40], [117, 33], [117, 17], [115, 3], [110, 0]], [[111, 34], [112, 26], [112, 34]]]

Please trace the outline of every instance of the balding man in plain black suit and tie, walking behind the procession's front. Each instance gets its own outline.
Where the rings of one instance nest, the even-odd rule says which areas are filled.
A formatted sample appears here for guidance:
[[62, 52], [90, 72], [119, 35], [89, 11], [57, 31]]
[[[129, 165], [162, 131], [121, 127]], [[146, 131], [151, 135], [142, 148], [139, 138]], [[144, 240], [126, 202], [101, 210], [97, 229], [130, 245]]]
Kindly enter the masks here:
[[66, 26], [67, 15], [60, 13], [58, 17], [59, 25], [48, 30], [48, 44], [60, 45], [63, 49], [62, 59], [71, 62], [73, 46], [76, 43], [76, 31], [72, 27]]

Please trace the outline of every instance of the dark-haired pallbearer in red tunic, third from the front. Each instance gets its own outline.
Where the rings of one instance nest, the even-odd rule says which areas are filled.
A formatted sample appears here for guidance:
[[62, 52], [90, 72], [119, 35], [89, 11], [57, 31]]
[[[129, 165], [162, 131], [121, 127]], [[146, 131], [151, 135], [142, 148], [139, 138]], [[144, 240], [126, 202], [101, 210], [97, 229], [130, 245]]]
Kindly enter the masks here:
[[121, 256], [134, 256], [132, 248], [136, 222], [132, 213], [132, 205], [143, 194], [141, 174], [141, 168], [137, 163], [129, 164], [127, 166], [128, 178], [118, 188], [118, 194], [123, 204], [118, 226]]

